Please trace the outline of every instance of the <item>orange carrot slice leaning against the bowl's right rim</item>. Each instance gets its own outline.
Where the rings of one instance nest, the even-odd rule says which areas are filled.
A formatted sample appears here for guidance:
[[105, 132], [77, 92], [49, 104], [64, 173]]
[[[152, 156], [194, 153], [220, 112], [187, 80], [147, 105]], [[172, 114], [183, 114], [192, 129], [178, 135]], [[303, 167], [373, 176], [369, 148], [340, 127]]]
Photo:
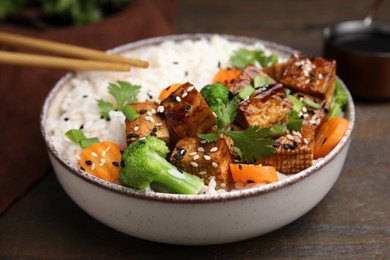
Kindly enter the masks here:
[[333, 117], [324, 122], [316, 131], [314, 159], [324, 157], [340, 142], [349, 126], [349, 121], [342, 117]]

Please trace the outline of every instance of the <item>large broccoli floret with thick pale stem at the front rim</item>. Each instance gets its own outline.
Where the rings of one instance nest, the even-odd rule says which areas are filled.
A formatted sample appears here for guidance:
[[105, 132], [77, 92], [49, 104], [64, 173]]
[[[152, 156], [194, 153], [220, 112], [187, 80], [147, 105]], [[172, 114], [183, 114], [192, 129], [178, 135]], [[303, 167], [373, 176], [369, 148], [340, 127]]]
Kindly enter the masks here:
[[197, 194], [203, 181], [170, 164], [168, 153], [165, 142], [153, 136], [131, 143], [122, 155], [120, 183], [143, 191], [151, 186], [160, 192]]

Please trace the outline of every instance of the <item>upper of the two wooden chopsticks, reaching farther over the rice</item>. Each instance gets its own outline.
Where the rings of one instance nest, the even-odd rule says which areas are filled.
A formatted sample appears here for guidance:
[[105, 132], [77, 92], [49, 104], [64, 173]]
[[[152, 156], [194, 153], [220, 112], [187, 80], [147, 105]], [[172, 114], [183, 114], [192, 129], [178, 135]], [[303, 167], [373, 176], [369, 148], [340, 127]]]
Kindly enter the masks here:
[[[61, 54], [61, 55], [84, 58], [84, 59], [89, 59], [94, 61], [97, 60], [97, 61], [105, 61], [110, 63], [114, 63], [114, 62], [122, 63], [122, 64], [128, 64], [130, 66], [141, 67], [141, 68], [147, 68], [149, 66], [148, 62], [143, 60], [127, 58], [116, 54], [108, 54], [103, 51], [98, 51], [94, 49], [88, 49], [80, 46], [69, 45], [69, 44], [64, 44], [64, 43], [59, 43], [54, 41], [36, 39], [36, 38], [16, 35], [7, 32], [0, 32], [0, 42], [10, 44], [13, 46], [22, 46], [31, 49], [47, 51], [52, 54]], [[5, 57], [7, 57], [8, 60], [10, 56], [9, 54], [7, 54]], [[19, 59], [21, 59], [21, 57], [19, 57]], [[63, 60], [63, 62], [65, 62], [65, 60]], [[47, 66], [49, 66], [48, 64], [49, 63], [47, 63]], [[23, 64], [19, 64], [19, 65], [23, 65]], [[100, 65], [98, 65], [97, 67], [100, 67]]]

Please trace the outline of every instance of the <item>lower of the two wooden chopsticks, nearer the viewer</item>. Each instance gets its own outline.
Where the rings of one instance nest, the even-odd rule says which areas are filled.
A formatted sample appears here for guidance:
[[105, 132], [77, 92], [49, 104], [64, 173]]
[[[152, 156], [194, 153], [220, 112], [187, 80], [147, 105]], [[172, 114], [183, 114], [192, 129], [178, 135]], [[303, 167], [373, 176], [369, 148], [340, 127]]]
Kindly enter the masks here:
[[130, 65], [105, 61], [80, 60], [46, 55], [0, 51], [0, 63], [69, 70], [129, 71]]

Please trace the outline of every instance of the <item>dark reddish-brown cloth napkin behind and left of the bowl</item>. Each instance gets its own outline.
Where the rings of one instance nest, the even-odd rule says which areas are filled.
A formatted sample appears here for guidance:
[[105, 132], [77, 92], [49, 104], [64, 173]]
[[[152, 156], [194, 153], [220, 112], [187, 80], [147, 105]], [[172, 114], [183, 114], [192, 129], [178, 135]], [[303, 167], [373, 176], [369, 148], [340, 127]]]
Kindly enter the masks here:
[[[101, 22], [49, 32], [0, 24], [0, 30], [100, 50], [173, 32], [177, 0], [132, 0]], [[0, 45], [1, 50], [29, 51]], [[50, 169], [40, 132], [44, 99], [66, 71], [0, 65], [0, 214]]]

